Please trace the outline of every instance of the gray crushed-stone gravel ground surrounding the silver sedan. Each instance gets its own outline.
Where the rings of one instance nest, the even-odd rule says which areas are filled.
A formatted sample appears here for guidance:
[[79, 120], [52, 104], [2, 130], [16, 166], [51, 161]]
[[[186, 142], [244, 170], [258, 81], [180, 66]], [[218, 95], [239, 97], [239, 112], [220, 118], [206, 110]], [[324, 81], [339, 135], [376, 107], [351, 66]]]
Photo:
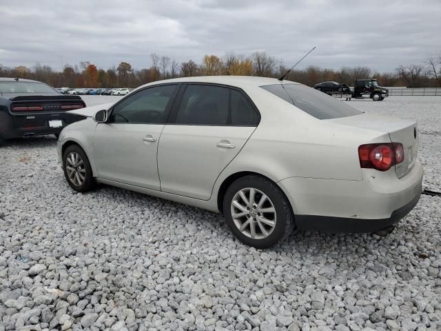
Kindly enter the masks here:
[[[441, 98], [351, 104], [418, 119], [424, 187], [441, 190]], [[300, 232], [261, 251], [212, 212], [75, 193], [55, 141], [0, 148], [0, 331], [441, 330], [439, 197], [386, 238]]]

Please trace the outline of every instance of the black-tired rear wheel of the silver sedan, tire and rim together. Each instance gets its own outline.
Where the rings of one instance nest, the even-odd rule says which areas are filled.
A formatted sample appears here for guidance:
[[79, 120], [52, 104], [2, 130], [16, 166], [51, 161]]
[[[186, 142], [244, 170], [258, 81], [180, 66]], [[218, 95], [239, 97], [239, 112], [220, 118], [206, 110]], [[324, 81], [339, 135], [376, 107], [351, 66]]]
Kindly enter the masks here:
[[[249, 201], [252, 190], [254, 204]], [[247, 202], [243, 200], [243, 195], [248, 199]], [[263, 195], [267, 199], [263, 198]], [[237, 208], [237, 205], [240, 205], [240, 208]], [[229, 185], [223, 200], [223, 214], [236, 238], [255, 248], [269, 248], [276, 245], [294, 228], [294, 214], [283, 191], [269, 179], [258, 175], [242, 177]], [[265, 223], [259, 219], [265, 220]], [[243, 230], [240, 230], [240, 227], [243, 227]]]

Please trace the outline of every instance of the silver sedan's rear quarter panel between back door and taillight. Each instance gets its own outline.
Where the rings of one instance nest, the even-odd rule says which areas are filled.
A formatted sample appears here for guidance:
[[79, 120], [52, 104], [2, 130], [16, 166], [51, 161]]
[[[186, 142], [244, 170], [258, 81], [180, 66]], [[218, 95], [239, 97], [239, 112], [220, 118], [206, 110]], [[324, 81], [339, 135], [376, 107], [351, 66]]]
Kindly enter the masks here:
[[260, 90], [245, 90], [260, 111], [261, 120], [218, 177], [213, 198], [217, 199], [223, 181], [237, 172], [256, 172], [276, 183], [289, 177], [362, 181], [358, 146], [389, 141], [385, 132], [316, 119]]

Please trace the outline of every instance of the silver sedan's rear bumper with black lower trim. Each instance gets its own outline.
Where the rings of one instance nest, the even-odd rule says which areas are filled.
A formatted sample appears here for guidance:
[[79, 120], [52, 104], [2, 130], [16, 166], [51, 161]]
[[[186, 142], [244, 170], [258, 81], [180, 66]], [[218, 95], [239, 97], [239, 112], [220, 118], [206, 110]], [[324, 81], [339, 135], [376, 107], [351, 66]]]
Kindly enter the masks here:
[[365, 181], [293, 177], [278, 184], [293, 206], [300, 230], [373, 232], [398, 222], [420, 199], [421, 163], [416, 161], [400, 179], [394, 171]]

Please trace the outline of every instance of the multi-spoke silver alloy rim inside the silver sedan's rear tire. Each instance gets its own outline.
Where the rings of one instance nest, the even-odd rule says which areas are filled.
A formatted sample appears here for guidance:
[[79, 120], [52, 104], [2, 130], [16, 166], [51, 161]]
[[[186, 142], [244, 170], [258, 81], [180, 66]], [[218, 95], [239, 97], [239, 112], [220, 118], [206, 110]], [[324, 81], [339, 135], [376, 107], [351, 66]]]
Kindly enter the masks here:
[[265, 239], [276, 227], [274, 203], [256, 188], [243, 188], [236, 192], [231, 213], [234, 225], [251, 239]]

